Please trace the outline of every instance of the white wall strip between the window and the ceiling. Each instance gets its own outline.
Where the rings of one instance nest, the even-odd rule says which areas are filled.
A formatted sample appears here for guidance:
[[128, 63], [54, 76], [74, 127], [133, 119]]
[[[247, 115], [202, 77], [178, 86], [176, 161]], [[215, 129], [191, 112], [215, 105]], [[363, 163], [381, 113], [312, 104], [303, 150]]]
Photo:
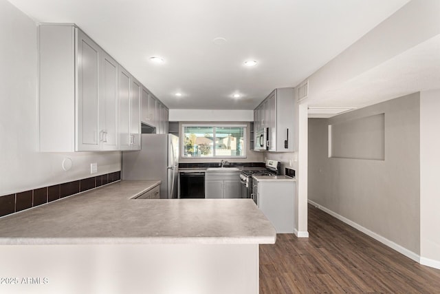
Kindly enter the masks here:
[[254, 121], [253, 110], [170, 109], [170, 121]]

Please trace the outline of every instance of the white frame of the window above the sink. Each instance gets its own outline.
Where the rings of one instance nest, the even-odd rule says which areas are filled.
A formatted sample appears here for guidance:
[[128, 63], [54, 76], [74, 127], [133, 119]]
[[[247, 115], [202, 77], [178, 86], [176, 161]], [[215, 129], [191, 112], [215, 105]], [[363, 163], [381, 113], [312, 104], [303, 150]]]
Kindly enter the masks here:
[[[216, 140], [217, 127], [243, 127], [243, 155], [242, 156], [217, 156], [215, 155], [215, 144], [212, 149], [212, 156], [185, 156], [185, 127], [212, 127], [212, 136]], [[246, 149], [248, 149], [248, 125], [245, 124], [225, 124], [225, 123], [182, 123], [181, 124], [181, 158], [247, 158]]]

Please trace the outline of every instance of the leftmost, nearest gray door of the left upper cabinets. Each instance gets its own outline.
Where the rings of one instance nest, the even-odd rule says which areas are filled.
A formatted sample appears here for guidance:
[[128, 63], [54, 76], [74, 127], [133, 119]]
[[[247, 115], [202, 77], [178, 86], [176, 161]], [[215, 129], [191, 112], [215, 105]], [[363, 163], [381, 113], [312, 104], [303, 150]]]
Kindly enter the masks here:
[[78, 33], [77, 46], [77, 129], [76, 150], [98, 150], [98, 72], [99, 46], [83, 32]]

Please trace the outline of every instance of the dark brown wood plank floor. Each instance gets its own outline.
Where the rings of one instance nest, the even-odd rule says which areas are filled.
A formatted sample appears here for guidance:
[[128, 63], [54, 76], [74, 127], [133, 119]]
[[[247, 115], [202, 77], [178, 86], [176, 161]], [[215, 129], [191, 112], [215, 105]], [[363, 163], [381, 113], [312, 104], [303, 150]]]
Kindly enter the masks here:
[[308, 231], [260, 245], [260, 293], [440, 293], [440, 270], [310, 205]]

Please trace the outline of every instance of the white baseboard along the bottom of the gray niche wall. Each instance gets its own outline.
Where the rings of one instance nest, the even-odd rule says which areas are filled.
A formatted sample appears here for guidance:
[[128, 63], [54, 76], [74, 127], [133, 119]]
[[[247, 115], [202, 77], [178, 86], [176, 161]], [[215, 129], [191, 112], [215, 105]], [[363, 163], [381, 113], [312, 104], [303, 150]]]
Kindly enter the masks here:
[[[307, 200], [311, 205], [314, 207], [317, 207], [318, 209], [321, 209], [322, 211], [325, 211], [326, 213], [329, 213], [330, 216], [333, 216], [337, 218], [338, 220], [341, 220], [342, 222], [345, 222], [346, 224], [349, 224], [349, 226], [357, 229], [358, 231], [361, 231], [362, 233], [365, 233], [366, 235], [369, 235], [371, 238], [381, 242], [382, 244], [385, 244], [386, 246], [390, 247], [391, 249], [394, 249], [395, 251], [405, 255], [406, 257], [414, 260], [415, 262], [419, 262], [421, 264], [421, 258], [420, 255], [417, 253], [414, 253], [403, 246], [400, 246], [399, 244], [396, 244], [395, 242], [388, 240], [384, 238], [382, 235], [379, 235], [373, 231], [370, 231], [369, 229], [366, 229], [362, 227], [360, 224], [357, 224], [356, 222], [353, 222], [352, 220], [349, 220], [348, 218], [344, 218], [344, 216], [340, 216], [338, 213], [331, 211], [330, 209], [327, 209], [326, 207], [323, 207], [322, 205], [312, 201]], [[428, 264], [426, 264], [428, 265]]]

